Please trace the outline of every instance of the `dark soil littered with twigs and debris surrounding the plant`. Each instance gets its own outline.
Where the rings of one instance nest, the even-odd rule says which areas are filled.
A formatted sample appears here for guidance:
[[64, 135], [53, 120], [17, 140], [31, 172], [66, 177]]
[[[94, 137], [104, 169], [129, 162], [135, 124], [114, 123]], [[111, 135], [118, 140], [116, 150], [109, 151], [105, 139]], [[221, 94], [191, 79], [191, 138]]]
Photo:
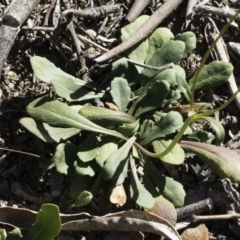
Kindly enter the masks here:
[[[0, 13], [4, 13], [9, 2], [11, 1], [0, 0]], [[3, 66], [0, 80], [0, 206], [14, 206], [37, 211], [43, 203], [51, 202], [57, 204], [61, 212], [64, 213], [71, 202], [68, 194], [68, 186], [72, 181], [71, 177], [62, 176], [52, 164], [51, 156], [54, 153], [54, 146], [43, 143], [19, 124], [19, 119], [26, 116], [25, 108], [27, 104], [33, 99], [39, 96], [57, 98], [51, 86], [39, 82], [35, 78], [30, 65], [30, 58], [35, 55], [45, 57], [63, 71], [104, 87], [106, 87], [104, 78], [109, 73], [110, 65], [108, 63], [97, 64], [94, 61], [94, 58], [99, 56], [101, 51], [91, 44], [83, 44], [81, 47], [81, 56], [79, 57], [77, 54], [78, 49], [68, 29], [69, 17], [60, 15], [58, 25], [53, 29], [53, 13], [51, 12], [48, 24], [46, 26], [43, 25], [51, 2], [54, 1], [41, 0], [40, 4], [33, 10], [28, 20], [22, 25]], [[108, 17], [83, 18], [75, 16], [73, 20], [73, 27], [77, 34], [92, 39], [92, 41], [104, 48], [111, 49], [119, 44], [120, 29], [126, 25], [125, 17], [132, 6], [132, 2], [131, 0], [60, 1], [60, 13], [66, 10], [67, 3], [74, 9], [85, 9], [90, 7], [91, 4], [93, 4], [93, 7], [106, 4], [121, 4], [121, 11], [112, 13]], [[151, 15], [163, 2], [166, 1], [151, 1], [141, 14]], [[215, 7], [218, 10], [223, 8], [237, 9], [240, 7], [240, 1], [237, 0], [200, 2], [205, 5], [208, 2], [209, 6]], [[160, 26], [170, 28], [174, 34], [184, 31], [193, 31], [196, 34], [196, 49], [187, 59], [179, 63], [184, 67], [189, 78], [195, 72], [197, 66], [199, 66], [208, 48], [209, 33], [213, 31], [211, 28], [206, 27], [210, 21], [209, 17], [215, 22], [218, 29], [221, 30], [229, 19], [229, 16], [226, 17], [219, 15], [219, 13], [197, 10], [192, 12], [186, 20], [187, 7], [188, 1], [183, 1]], [[103, 25], [104, 21], [106, 21], [105, 25]], [[240, 30], [238, 24], [239, 22], [236, 21], [224, 34], [223, 40], [226, 44], [229, 42], [239, 42]], [[31, 29], [31, 25], [45, 27], [45, 30]], [[104, 39], [91, 37], [91, 34], [93, 36], [95, 33], [98, 33]], [[107, 41], [107, 39], [113, 39], [113, 41]], [[237, 85], [239, 85], [239, 55], [230, 48], [228, 48], [228, 52], [230, 62], [234, 66], [235, 80]], [[214, 56], [210, 57], [208, 62], [212, 61], [213, 58]], [[217, 107], [230, 97], [230, 93], [227, 85], [224, 85], [204, 92], [198, 92], [195, 97], [196, 101], [209, 102], [213, 107]], [[218, 115], [218, 119], [226, 131], [223, 145], [234, 151], [239, 151], [240, 149], [239, 118], [239, 108], [234, 102]], [[19, 152], [3, 150], [2, 148], [13, 149]], [[37, 159], [21, 152], [37, 154], [41, 158]], [[188, 161], [184, 166], [176, 169], [179, 171], [180, 176], [183, 176], [180, 182], [187, 193], [186, 204], [196, 203], [217, 195], [219, 196], [219, 201], [214, 208], [203, 214], [226, 214], [228, 210], [231, 210], [230, 205], [234, 203], [233, 199], [229, 197], [231, 191], [227, 192], [224, 189], [223, 182], [214, 174], [209, 174], [210, 170], [207, 166], [203, 165], [200, 161], [197, 164]], [[230, 185], [232, 191], [239, 194], [239, 185]], [[109, 202], [108, 198], [109, 190], [107, 187], [102, 186], [99, 194], [94, 196], [93, 201], [89, 205], [74, 209], [73, 212], [88, 212], [100, 216], [111, 212], [138, 208], [131, 201], [125, 206], [117, 208]], [[239, 204], [239, 199], [235, 199], [235, 204]], [[179, 222], [182, 221], [184, 220], [179, 220]], [[237, 220], [221, 219], [203, 221], [202, 223], [207, 227], [209, 234], [209, 238], [204, 239], [240, 239], [240, 225]], [[190, 225], [190, 227], [194, 226], [196, 224]], [[182, 231], [180, 230], [180, 233]], [[143, 235], [142, 233], [69, 232], [61, 233], [57, 239], [133, 240], [160, 239], [160, 237], [153, 234]]]

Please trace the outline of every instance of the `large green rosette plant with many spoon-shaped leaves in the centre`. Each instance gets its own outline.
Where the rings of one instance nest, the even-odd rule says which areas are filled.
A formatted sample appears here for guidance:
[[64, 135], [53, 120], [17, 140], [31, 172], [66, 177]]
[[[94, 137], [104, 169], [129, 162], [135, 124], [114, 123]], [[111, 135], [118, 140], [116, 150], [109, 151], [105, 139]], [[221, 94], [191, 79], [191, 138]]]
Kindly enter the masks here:
[[[141, 16], [124, 27], [122, 40], [128, 38], [146, 19], [147, 16]], [[159, 28], [129, 50], [127, 56], [138, 63], [161, 67], [185, 58], [195, 45], [196, 37], [192, 32], [174, 37], [170, 30]], [[209, 122], [215, 130], [216, 144], [224, 138], [223, 127], [209, 116], [226, 104], [212, 111], [204, 111], [208, 104], [194, 109], [195, 89], [223, 84], [233, 71], [231, 64], [221, 61], [204, 66], [209, 51], [189, 82], [186, 81], [184, 69], [178, 65], [156, 72], [129, 64], [126, 58], [121, 58], [112, 64], [109, 92], [64, 73], [44, 58], [31, 58], [37, 77], [51, 84], [57, 95], [72, 104], [48, 97], [38, 98], [27, 106], [30, 117], [22, 118], [20, 123], [43, 141], [58, 143], [52, 159], [57, 171], [62, 174], [75, 173], [75, 180], [70, 186], [70, 195], [75, 199], [72, 207], [91, 201], [102, 180], [110, 181], [114, 187], [123, 184], [127, 177], [130, 177], [131, 198], [145, 209], [156, 211], [159, 202], [170, 206], [170, 209], [183, 206], [183, 186], [170, 177], [160, 175], [152, 161], [156, 158], [169, 164], [182, 164], [185, 158], [183, 148], [194, 151], [210, 163], [219, 176], [240, 182], [236, 172], [240, 166], [236, 167], [232, 160], [227, 162], [228, 171], [225, 171], [226, 166], [222, 162], [226, 160], [215, 158], [216, 146], [196, 143], [197, 147], [193, 149], [189, 142], [179, 144], [183, 135], [201, 141], [201, 134], [193, 134], [189, 128], [193, 121], [199, 119]], [[164, 111], [182, 96], [190, 103], [185, 120], [177, 111]], [[102, 97], [105, 102], [112, 101], [111, 108], [114, 110], [78, 104], [96, 97]], [[79, 145], [65, 141], [77, 134]], [[204, 146], [207, 153], [202, 151]], [[209, 158], [211, 151], [213, 158]], [[136, 165], [144, 169], [144, 185], [139, 180]]]

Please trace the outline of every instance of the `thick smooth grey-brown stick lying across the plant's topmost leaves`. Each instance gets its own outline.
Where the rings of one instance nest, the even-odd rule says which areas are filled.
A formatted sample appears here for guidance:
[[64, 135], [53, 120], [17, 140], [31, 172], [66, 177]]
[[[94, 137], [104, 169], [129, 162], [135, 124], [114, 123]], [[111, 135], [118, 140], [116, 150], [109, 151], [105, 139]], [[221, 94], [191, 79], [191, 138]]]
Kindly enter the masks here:
[[109, 52], [104, 53], [100, 57], [96, 58], [95, 61], [98, 63], [107, 61], [148, 37], [158, 27], [158, 25], [182, 2], [183, 0], [168, 0], [156, 12], [154, 12], [152, 16], [132, 36], [130, 36], [126, 41], [117, 47], [111, 49]]

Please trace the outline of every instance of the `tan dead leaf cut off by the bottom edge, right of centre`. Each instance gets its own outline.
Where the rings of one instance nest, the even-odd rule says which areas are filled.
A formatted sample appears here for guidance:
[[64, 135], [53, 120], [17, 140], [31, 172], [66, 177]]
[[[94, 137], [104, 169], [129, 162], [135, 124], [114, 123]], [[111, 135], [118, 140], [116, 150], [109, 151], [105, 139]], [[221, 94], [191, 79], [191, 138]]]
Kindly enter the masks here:
[[208, 229], [205, 224], [195, 228], [188, 228], [181, 234], [182, 240], [209, 240]]

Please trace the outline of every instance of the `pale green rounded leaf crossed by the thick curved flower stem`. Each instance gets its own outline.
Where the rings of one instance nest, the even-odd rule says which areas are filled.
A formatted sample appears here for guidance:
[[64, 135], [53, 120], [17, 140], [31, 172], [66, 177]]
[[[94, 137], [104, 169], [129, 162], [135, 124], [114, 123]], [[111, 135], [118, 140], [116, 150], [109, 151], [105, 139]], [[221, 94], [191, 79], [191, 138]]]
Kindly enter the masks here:
[[[164, 150], [167, 149], [167, 147], [172, 143], [172, 140], [160, 140], [160, 141], [154, 141], [152, 143], [153, 149], [155, 153], [162, 153]], [[163, 157], [160, 157], [161, 161], [169, 163], [169, 164], [182, 164], [185, 158], [185, 154], [183, 149], [180, 147], [180, 145], [177, 143], [173, 149], [164, 155]]]

